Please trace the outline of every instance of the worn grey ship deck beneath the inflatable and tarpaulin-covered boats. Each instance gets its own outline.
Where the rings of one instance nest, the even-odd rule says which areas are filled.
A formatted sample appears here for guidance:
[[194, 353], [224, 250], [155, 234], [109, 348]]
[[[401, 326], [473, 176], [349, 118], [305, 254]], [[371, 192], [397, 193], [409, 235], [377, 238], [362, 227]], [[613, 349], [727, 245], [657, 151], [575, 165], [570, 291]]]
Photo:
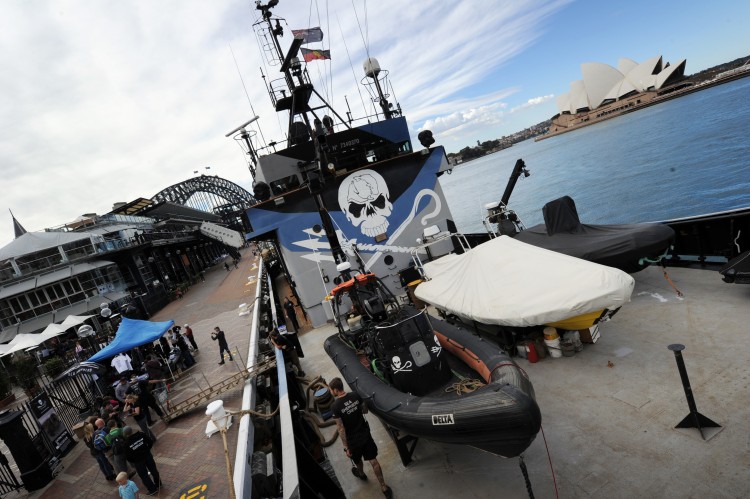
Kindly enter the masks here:
[[[632, 301], [601, 325], [597, 343], [573, 357], [518, 360], [542, 411], [543, 430], [524, 455], [535, 497], [556, 497], [555, 483], [566, 498], [750, 495], [750, 286], [709, 270], [673, 268], [669, 276], [684, 296], [660, 268], [647, 268], [634, 274]], [[302, 335], [308, 375], [338, 376], [320, 347], [333, 332]], [[706, 440], [675, 429], [690, 411], [672, 343], [685, 345], [698, 411], [722, 426], [705, 430]], [[518, 459], [420, 440], [405, 467], [377, 418], [368, 418], [394, 497], [529, 497]], [[369, 465], [361, 482], [340, 442], [326, 452], [347, 497], [382, 497]]]

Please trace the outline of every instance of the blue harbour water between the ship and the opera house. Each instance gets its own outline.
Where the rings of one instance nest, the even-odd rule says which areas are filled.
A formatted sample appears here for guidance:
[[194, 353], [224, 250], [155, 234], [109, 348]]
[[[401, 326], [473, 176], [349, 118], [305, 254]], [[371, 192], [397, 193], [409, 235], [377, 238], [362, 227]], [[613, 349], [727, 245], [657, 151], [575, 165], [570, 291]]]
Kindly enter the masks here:
[[[750, 78], [458, 165], [441, 184], [458, 229], [482, 232], [522, 158], [509, 206], [527, 227], [571, 196], [583, 223], [635, 223], [750, 206]], [[439, 140], [439, 137], [438, 137]]]

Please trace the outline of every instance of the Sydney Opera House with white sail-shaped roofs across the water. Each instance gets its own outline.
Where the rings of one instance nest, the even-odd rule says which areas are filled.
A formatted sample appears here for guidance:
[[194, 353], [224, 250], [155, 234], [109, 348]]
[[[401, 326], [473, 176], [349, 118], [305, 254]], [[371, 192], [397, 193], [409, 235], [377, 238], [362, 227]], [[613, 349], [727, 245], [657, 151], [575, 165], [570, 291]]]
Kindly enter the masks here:
[[608, 64], [581, 64], [583, 79], [570, 84], [570, 92], [557, 98], [560, 114], [549, 133], [561, 133], [641, 107], [683, 79], [685, 59], [663, 64], [657, 56], [642, 63], [622, 58], [614, 68]]

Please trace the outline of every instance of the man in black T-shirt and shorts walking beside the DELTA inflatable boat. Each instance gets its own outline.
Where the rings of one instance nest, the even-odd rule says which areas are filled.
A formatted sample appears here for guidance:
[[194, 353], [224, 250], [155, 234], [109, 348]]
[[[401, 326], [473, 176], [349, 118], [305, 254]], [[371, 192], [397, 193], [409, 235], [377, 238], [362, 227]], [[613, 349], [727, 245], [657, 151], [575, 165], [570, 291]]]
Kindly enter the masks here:
[[331, 412], [336, 420], [341, 443], [344, 444], [344, 452], [355, 464], [352, 474], [360, 480], [367, 480], [362, 458], [367, 459], [378, 479], [380, 490], [390, 499], [393, 497], [393, 491], [383, 479], [383, 470], [377, 459], [378, 447], [372, 439], [370, 425], [364, 416], [367, 414], [367, 404], [356, 393], [346, 393], [341, 378], [333, 378], [328, 387], [331, 394], [336, 397]]

